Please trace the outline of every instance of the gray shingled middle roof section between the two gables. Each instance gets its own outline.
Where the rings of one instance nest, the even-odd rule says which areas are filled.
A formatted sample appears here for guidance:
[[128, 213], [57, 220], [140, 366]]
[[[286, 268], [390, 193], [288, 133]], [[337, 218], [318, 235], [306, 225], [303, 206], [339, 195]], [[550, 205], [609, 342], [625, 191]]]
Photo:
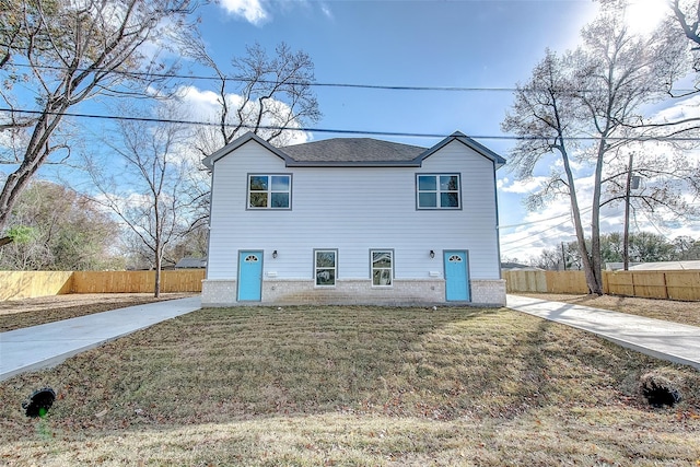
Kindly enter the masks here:
[[280, 148], [298, 162], [409, 162], [427, 148], [372, 138], [331, 138]]

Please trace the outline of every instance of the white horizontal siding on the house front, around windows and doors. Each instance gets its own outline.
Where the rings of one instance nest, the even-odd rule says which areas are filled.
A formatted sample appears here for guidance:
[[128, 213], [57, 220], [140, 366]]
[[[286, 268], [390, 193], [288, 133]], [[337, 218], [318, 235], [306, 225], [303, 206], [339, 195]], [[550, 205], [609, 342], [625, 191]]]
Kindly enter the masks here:
[[[457, 141], [422, 167], [285, 167], [249, 141], [217, 161], [213, 173], [207, 271], [212, 283], [235, 281], [238, 250], [256, 249], [265, 252], [262, 302], [279, 295], [271, 293], [279, 290], [272, 289], [276, 281], [306, 280], [313, 289], [315, 248], [338, 249], [338, 283], [365, 280], [369, 290], [370, 249], [384, 248], [394, 250], [393, 289], [421, 279], [431, 301], [435, 281], [444, 300], [443, 249], [468, 250], [470, 280], [501, 283], [493, 163]], [[246, 210], [250, 173], [291, 174], [292, 209]], [[460, 210], [416, 209], [416, 174], [430, 173], [460, 173]], [[478, 295], [472, 290], [472, 300]], [[202, 296], [205, 303], [222, 300]]]

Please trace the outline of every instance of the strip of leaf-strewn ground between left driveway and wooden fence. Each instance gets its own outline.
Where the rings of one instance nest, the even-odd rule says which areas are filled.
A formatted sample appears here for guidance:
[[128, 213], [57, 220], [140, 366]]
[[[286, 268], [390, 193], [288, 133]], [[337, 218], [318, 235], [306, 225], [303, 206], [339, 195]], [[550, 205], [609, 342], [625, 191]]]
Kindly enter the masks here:
[[156, 299], [152, 293], [80, 293], [4, 301], [0, 302], [0, 332], [192, 295], [164, 293]]

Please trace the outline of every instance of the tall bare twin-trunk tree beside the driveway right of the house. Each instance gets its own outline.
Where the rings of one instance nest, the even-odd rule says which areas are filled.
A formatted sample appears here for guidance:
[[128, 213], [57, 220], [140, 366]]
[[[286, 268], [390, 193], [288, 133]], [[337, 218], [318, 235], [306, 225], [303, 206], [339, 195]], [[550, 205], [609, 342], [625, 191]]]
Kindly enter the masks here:
[[[591, 293], [603, 293], [600, 207], [606, 182], [614, 179], [609, 163], [620, 148], [640, 139], [641, 108], [667, 91], [665, 78], [673, 60], [653, 39], [632, 36], [621, 22], [619, 4], [610, 4], [582, 32], [583, 45], [560, 58], [548, 51], [518, 86], [515, 104], [502, 124], [518, 137], [512, 162], [520, 178], [532, 177], [548, 154], [563, 167], [552, 168], [549, 182], [529, 198], [537, 208], [560, 196], [571, 203], [583, 270]], [[661, 54], [661, 55], [660, 55]], [[643, 136], [643, 135], [642, 135]], [[585, 235], [572, 162], [590, 167], [593, 177], [591, 220]], [[549, 161], [551, 162], [551, 161]], [[590, 246], [584, 237], [591, 238]]]

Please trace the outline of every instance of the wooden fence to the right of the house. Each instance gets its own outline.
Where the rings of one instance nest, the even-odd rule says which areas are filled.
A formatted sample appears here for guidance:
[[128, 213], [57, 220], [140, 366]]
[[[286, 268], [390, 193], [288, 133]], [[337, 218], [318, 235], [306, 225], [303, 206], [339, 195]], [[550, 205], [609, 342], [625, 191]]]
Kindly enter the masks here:
[[[583, 271], [503, 271], [508, 293], [588, 293]], [[700, 270], [603, 271], [610, 295], [700, 301]]]

